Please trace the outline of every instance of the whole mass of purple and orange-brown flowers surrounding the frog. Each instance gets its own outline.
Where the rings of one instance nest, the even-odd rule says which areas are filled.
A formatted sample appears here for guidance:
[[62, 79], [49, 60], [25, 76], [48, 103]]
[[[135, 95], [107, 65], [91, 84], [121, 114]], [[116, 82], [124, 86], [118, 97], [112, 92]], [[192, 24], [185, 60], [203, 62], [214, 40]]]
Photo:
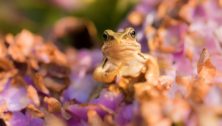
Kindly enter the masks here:
[[133, 94], [92, 78], [97, 49], [61, 52], [27, 30], [1, 37], [0, 125], [221, 125], [221, 13], [221, 0], [141, 0], [120, 29], [136, 28], [161, 81]]

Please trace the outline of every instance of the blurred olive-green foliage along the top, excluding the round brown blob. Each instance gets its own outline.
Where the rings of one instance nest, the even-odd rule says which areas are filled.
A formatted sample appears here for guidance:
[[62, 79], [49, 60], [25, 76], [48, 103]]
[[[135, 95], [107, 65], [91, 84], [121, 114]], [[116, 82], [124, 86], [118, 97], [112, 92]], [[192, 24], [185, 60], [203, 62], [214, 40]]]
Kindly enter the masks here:
[[17, 33], [26, 28], [41, 34], [60, 18], [74, 16], [92, 21], [101, 35], [104, 29], [115, 29], [136, 3], [137, 0], [1, 0], [0, 33]]

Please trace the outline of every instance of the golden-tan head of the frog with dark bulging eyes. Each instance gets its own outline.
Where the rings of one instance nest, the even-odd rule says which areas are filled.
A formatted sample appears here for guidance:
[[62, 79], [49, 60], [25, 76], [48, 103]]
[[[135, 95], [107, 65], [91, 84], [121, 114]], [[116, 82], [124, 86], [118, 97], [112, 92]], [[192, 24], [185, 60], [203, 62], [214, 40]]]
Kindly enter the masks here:
[[106, 57], [119, 59], [130, 57], [141, 51], [141, 46], [136, 40], [135, 30], [131, 27], [126, 28], [123, 32], [105, 30], [103, 38], [102, 52]]

